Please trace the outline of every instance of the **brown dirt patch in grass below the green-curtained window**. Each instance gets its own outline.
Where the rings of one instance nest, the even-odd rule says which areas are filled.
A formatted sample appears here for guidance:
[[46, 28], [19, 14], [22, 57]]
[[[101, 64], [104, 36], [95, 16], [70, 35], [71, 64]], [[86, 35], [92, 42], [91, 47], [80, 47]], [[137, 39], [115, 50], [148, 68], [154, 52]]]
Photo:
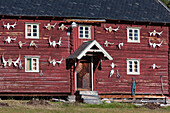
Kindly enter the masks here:
[[27, 102], [27, 105], [33, 105], [33, 106], [45, 105], [45, 106], [48, 106], [48, 105], [51, 105], [51, 104], [49, 104], [49, 102], [47, 102], [46, 100], [30, 100], [29, 102]]

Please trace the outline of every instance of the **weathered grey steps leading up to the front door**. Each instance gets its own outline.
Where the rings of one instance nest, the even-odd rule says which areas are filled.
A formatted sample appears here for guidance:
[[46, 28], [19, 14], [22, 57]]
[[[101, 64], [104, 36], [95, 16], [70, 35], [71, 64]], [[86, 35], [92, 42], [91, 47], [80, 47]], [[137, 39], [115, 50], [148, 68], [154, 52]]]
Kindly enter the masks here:
[[102, 104], [97, 91], [77, 91], [76, 100], [87, 104]]

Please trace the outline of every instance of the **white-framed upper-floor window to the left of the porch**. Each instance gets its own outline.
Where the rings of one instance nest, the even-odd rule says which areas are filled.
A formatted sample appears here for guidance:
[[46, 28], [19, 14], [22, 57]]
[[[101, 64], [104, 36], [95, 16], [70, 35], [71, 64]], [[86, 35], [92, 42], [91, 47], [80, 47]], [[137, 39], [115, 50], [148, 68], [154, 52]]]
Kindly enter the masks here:
[[25, 24], [25, 38], [27, 39], [39, 39], [39, 24]]

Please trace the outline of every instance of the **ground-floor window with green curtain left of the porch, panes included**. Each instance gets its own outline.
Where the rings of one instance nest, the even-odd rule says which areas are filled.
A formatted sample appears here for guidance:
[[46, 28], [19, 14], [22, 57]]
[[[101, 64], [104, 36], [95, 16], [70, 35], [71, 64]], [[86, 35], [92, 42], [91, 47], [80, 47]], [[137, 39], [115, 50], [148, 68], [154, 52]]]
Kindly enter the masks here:
[[39, 72], [39, 56], [25, 57], [25, 72]]

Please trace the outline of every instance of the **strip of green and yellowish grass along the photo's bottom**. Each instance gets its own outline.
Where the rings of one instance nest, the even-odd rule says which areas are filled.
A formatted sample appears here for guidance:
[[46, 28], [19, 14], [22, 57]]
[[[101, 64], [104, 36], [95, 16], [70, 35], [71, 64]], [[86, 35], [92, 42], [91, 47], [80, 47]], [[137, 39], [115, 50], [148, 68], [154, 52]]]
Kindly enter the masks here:
[[130, 103], [91, 105], [82, 103], [49, 102], [50, 105], [27, 105], [24, 100], [0, 100], [8, 107], [0, 106], [0, 113], [168, 113], [170, 107], [150, 110]]

